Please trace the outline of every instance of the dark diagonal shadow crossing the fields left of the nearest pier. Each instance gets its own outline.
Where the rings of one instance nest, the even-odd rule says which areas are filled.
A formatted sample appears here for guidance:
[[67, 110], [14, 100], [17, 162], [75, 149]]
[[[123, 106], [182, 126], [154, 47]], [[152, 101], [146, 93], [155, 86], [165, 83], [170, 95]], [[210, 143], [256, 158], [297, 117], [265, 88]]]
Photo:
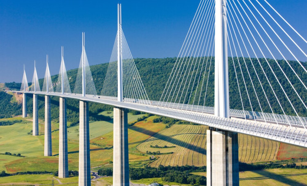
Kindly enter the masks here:
[[[204, 155], [207, 154], [207, 151], [204, 148], [200, 148], [196, 145], [192, 145], [192, 144], [187, 143], [185, 141], [181, 141], [181, 140], [172, 138], [174, 136], [181, 135], [181, 134], [174, 134], [174, 135], [170, 135], [170, 136], [165, 136], [163, 134], [159, 134], [159, 133], [156, 133], [156, 132], [153, 132], [153, 131], [150, 131], [150, 130], [146, 130], [144, 128], [140, 128], [140, 127], [137, 127], [137, 126], [131, 126], [131, 127], [129, 127], [129, 129], [137, 131], [137, 132], [141, 132], [141, 133], [146, 134], [146, 135], [151, 135], [154, 138], [173, 143], [175, 145], [190, 149], [192, 151], [195, 151], [195, 152], [198, 152], [198, 153], [201, 153], [201, 154], [204, 154]], [[201, 133], [182, 133], [182, 134], [201, 134]], [[129, 145], [136, 144], [136, 143], [142, 143], [142, 142], [145, 142], [145, 141], [153, 141], [153, 140], [157, 140], [157, 139], [136, 141], [136, 142], [133, 142], [133, 143], [129, 143]]]

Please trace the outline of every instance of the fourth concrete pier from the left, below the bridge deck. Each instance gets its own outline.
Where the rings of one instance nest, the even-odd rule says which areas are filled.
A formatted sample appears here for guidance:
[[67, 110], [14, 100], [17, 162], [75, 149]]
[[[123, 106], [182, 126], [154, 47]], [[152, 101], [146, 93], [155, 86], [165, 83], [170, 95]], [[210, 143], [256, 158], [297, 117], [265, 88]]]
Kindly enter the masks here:
[[59, 178], [68, 177], [66, 99], [60, 97]]

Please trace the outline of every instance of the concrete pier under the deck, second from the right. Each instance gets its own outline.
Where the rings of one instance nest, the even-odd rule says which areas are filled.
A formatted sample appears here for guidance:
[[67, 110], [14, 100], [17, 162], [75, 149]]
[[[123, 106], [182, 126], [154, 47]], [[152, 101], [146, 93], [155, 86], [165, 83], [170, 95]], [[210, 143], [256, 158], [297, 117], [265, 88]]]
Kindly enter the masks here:
[[113, 186], [129, 186], [127, 111], [114, 108], [113, 114]]

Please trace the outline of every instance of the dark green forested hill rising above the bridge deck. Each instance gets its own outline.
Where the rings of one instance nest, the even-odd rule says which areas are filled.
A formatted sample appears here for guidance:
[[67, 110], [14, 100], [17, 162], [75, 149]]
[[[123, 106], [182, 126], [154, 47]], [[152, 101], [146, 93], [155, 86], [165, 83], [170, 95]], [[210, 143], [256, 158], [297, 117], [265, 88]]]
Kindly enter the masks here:
[[[169, 78], [169, 75], [173, 69], [174, 63], [177, 58], [136, 58], [134, 59], [136, 67], [138, 68], [138, 72], [141, 76], [142, 82], [144, 84], [144, 87], [146, 89], [146, 92], [149, 96], [149, 99], [151, 100], [159, 100], [161, 97], [161, 94], [164, 90], [165, 84]], [[201, 60], [206, 60], [205, 58], [201, 58]], [[266, 91], [267, 97], [270, 100], [271, 106], [274, 110], [275, 113], [280, 113], [282, 114], [282, 110], [280, 110], [280, 107], [278, 105], [277, 99], [274, 97], [273, 92], [270, 89], [269, 83], [267, 83], [266, 77], [263, 75], [262, 68], [259, 65], [257, 59], [252, 59], [255, 65], [255, 69], [258, 72], [259, 79], [262, 82], [262, 86], [264, 90]], [[282, 105], [286, 107], [286, 114], [293, 115], [293, 111], [291, 110], [291, 105], [288, 103], [287, 98], [283, 94], [283, 91], [281, 90], [280, 86], [277, 83], [277, 80], [274, 77], [274, 74], [270, 72], [270, 67], [267, 65], [267, 62], [265, 59], [259, 59], [260, 63], [262, 64], [262, 67], [264, 69], [270, 80], [272, 86], [274, 87], [278, 98], [280, 98], [280, 102]], [[243, 63], [243, 58], [239, 58], [239, 61], [241, 63], [242, 71], [244, 74], [244, 78], [246, 81], [247, 85], [247, 91], [249, 92], [250, 99], [252, 103], [258, 103], [253, 86], [250, 83], [249, 76], [247, 73], [247, 70], [245, 68], [245, 64]], [[254, 82], [255, 90], [258, 94], [258, 99], [260, 100], [261, 104], [266, 101], [265, 95], [263, 94], [262, 88], [260, 86], [260, 83], [257, 79], [256, 73], [254, 71], [254, 67], [251, 65], [251, 62], [248, 58], [245, 58], [247, 68], [249, 69], [251, 79]], [[276, 64], [276, 62], [272, 59], [267, 59], [269, 64], [271, 65], [271, 68], [273, 68], [275, 74], [277, 77], [284, 77], [282, 71]], [[297, 61], [288, 61], [292, 68], [297, 72], [297, 74], [300, 77], [306, 77], [306, 73], [303, 71], [301, 68], [300, 64], [297, 63]], [[247, 97], [247, 91], [244, 86], [243, 78], [240, 73], [240, 68], [238, 65], [238, 61], [235, 59], [235, 65], [236, 65], [236, 71], [239, 79], [239, 85], [240, 85], [240, 91], [242, 94], [242, 99], [243, 99], [243, 104], [245, 107], [245, 110], [250, 110], [250, 104], [249, 100]], [[280, 64], [280, 67], [284, 70], [287, 76], [289, 76], [290, 81], [293, 83], [293, 86], [297, 89], [297, 92], [300, 94], [301, 98], [305, 103], [307, 103], [307, 95], [306, 95], [306, 90], [305, 88], [301, 85], [299, 80], [294, 76], [291, 68], [289, 65], [286, 63], [285, 60], [279, 60], [278, 63]], [[305, 68], [307, 68], [307, 63], [303, 63]], [[98, 64], [98, 65], [93, 65], [91, 66], [91, 73], [92, 77], [94, 79], [95, 87], [97, 90], [97, 94], [101, 94], [101, 90], [103, 87], [103, 81], [106, 76], [108, 68], [108, 63], [104, 64]], [[240, 99], [240, 94], [239, 94], [239, 89], [238, 89], [238, 84], [235, 76], [235, 71], [233, 68], [233, 61], [231, 58], [229, 58], [229, 97], [230, 97], [230, 107], [234, 109], [241, 109], [242, 110], [242, 104], [241, 104], [241, 99]], [[208, 69], [207, 69], [208, 71]], [[68, 74], [68, 79], [69, 83], [71, 86], [71, 89], [73, 91], [74, 89], [74, 83], [76, 80], [76, 75], [77, 75], [77, 69], [72, 69], [67, 72]], [[205, 78], [207, 79], [208, 72], [206, 72]], [[202, 76], [203, 77], [203, 76]], [[58, 76], [52, 76], [52, 82], [55, 83], [58, 79]], [[203, 78], [201, 78], [203, 79]], [[40, 79], [40, 86], [42, 87], [43, 84], [43, 79]], [[302, 78], [302, 81], [307, 84], [307, 78]], [[287, 92], [289, 99], [293, 103], [294, 107], [298, 108], [298, 113], [301, 116], [307, 116], [305, 107], [301, 103], [299, 99], [297, 99], [296, 94], [294, 91], [292, 91], [292, 88], [290, 85], [287, 84], [286, 78], [280, 79], [280, 83], [282, 86], [285, 88], [285, 91]], [[6, 86], [9, 86], [8, 83], [6, 83]], [[16, 87], [16, 84], [14, 84], [14, 87]], [[202, 92], [202, 95], [204, 93]], [[201, 98], [200, 103], [203, 103], [203, 99]], [[206, 106], [214, 106], [214, 57], [212, 58], [212, 65], [211, 65], [211, 70], [210, 70], [210, 76], [208, 78], [208, 90], [207, 90], [207, 95], [206, 95]], [[268, 104], [263, 104], [264, 106], [262, 107], [264, 112], [271, 112], [270, 107]], [[267, 106], [265, 106], [267, 105]], [[77, 106], [77, 105], [76, 105]], [[258, 104], [253, 104], [254, 110], [260, 111], [260, 107]], [[101, 110], [101, 109], [100, 109]]]

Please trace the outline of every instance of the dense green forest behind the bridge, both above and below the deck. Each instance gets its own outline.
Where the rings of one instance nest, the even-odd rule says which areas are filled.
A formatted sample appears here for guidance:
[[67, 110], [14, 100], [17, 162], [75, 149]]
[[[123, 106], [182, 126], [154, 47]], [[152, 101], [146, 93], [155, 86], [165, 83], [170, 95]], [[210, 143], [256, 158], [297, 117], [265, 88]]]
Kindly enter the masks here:
[[[201, 60], [205, 60], [207, 57], [202, 57]], [[247, 62], [246, 66], [243, 64], [244, 60]], [[293, 107], [297, 110], [298, 114], [301, 116], [307, 116], [306, 109], [304, 105], [302, 104], [301, 100], [298, 99], [297, 94], [301, 96], [302, 101], [306, 104], [307, 103], [307, 97], [306, 97], [306, 90], [302, 86], [301, 82], [297, 77], [294, 75], [292, 69], [289, 67], [287, 62], [285, 60], [277, 60], [278, 64], [276, 63], [275, 60], [272, 59], [259, 59], [259, 61], [255, 58], [251, 59], [253, 61], [255, 70], [251, 64], [250, 59], [248, 58], [235, 58], [235, 63], [236, 63], [236, 71], [237, 71], [237, 76], [234, 71], [233, 67], [233, 61], [231, 58], [228, 59], [229, 62], [229, 97], [230, 99], [230, 108], [233, 109], [239, 109], [242, 110], [242, 104], [241, 104], [241, 98], [239, 94], [239, 88], [238, 88], [238, 83], [237, 83], [237, 78], [239, 82], [239, 87], [240, 91], [242, 94], [242, 102], [245, 110], [251, 110], [251, 105], [250, 101], [247, 96], [247, 92], [249, 93], [249, 97], [251, 99], [251, 103], [253, 110], [254, 111], [261, 111], [261, 108], [258, 104], [258, 99], [260, 100], [260, 104], [262, 107], [263, 112], [269, 112], [271, 113], [272, 110], [274, 113], [277, 114], [283, 114], [282, 109], [280, 108], [280, 104], [284, 108], [284, 112], [289, 115], [295, 115], [294, 110], [292, 109], [292, 106], [290, 105], [288, 99], [292, 102]], [[165, 88], [165, 85], [167, 83], [167, 80], [169, 78], [169, 75], [173, 69], [174, 63], [176, 61], [176, 58], [162, 58], [162, 59], [153, 59], [153, 58], [136, 58], [134, 59], [136, 67], [138, 68], [138, 72], [141, 76], [142, 82], [144, 84], [144, 87], [146, 89], [146, 92], [148, 94], [149, 99], [151, 100], [160, 100], [160, 97], [162, 95], [162, 92]], [[238, 62], [241, 64], [242, 69], [239, 69]], [[288, 61], [288, 63], [291, 65], [291, 67], [297, 72], [298, 76], [304, 77], [306, 75], [306, 72], [301, 68], [300, 64], [298, 64], [296, 61]], [[262, 65], [262, 67], [260, 66]], [[270, 66], [268, 65], [270, 64]], [[307, 63], [302, 63], [305, 68], [307, 68]], [[246, 68], [247, 67], [247, 68]], [[93, 65], [91, 66], [91, 73], [92, 77], [95, 83], [96, 91], [97, 94], [100, 95], [102, 88], [103, 88], [103, 82], [104, 78], [106, 76], [108, 64], [98, 64], [98, 65]], [[275, 78], [274, 74], [271, 72], [270, 68], [272, 68], [275, 72], [275, 75], [278, 77], [278, 81], [281, 83], [283, 86], [285, 92], [287, 95], [284, 94], [283, 90], [281, 89], [277, 79]], [[250, 72], [250, 77], [247, 73], [247, 69], [249, 69]], [[263, 71], [266, 72], [266, 76], [264, 76]], [[284, 72], [282, 72], [282, 70]], [[242, 74], [241, 74], [242, 70]], [[257, 73], [256, 73], [257, 72]], [[192, 73], [192, 72], [191, 72]], [[74, 89], [74, 83], [76, 81], [76, 76], [77, 76], [77, 69], [72, 69], [67, 71], [68, 74], [68, 79], [70, 83], [70, 87], [73, 91]], [[205, 106], [214, 106], [214, 57], [212, 58], [212, 66], [210, 70], [210, 76], [208, 77], [208, 72], [206, 74], [202, 74], [200, 79], [207, 79], [208, 78], [208, 90], [206, 92], [206, 102]], [[259, 83], [259, 80], [257, 78], [257, 74], [259, 75], [259, 79], [261, 84]], [[285, 75], [288, 76], [289, 81], [292, 83], [293, 87], [297, 90], [297, 93], [293, 91], [292, 86], [289, 84], [288, 80], [285, 78]], [[197, 78], [197, 77], [196, 77]], [[243, 78], [246, 80], [246, 88], [245, 84], [243, 81]], [[58, 75], [52, 76], [52, 82], [54, 84], [54, 88], [56, 88], [56, 82], [58, 79]], [[254, 83], [254, 86], [251, 84], [251, 80]], [[277, 94], [277, 97], [279, 100], [275, 98], [274, 92], [271, 90], [271, 86], [268, 83], [267, 79], [270, 81], [271, 86], [273, 87], [275, 93]], [[303, 83], [307, 84], [307, 79], [302, 78], [301, 79]], [[44, 79], [39, 79], [40, 86], [42, 87]], [[203, 83], [203, 82], [200, 82]], [[8, 87], [11, 88], [17, 88], [19, 86], [18, 83], [6, 83]], [[193, 87], [192, 84], [190, 84], [190, 87]], [[262, 89], [262, 87], [263, 89]], [[253, 89], [255, 87], [255, 91], [257, 93], [257, 96], [255, 95], [255, 91]], [[19, 87], [18, 87], [19, 89]], [[265, 91], [266, 94], [264, 94], [263, 90]], [[200, 103], [200, 105], [203, 105], [204, 103], [204, 98], [205, 98], [205, 88], [202, 89], [202, 94], [199, 97], [199, 93], [196, 94], [195, 96], [195, 89], [192, 91], [188, 91], [187, 96], [191, 96], [191, 99], [185, 100], [185, 103], [192, 104], [194, 101], [194, 104]], [[200, 92], [200, 89], [198, 89]], [[1, 96], [1, 95], [0, 95]], [[2, 95], [3, 96], [3, 95]], [[30, 97], [30, 96], [29, 96]], [[194, 97], [196, 98], [194, 100]], [[266, 101], [266, 97], [270, 101], [270, 105]], [[287, 98], [288, 97], [288, 98]], [[31, 98], [29, 98], [31, 99]], [[40, 100], [43, 100], [44, 98], [41, 97]], [[58, 98], [52, 98], [52, 102], [54, 108], [52, 108], [52, 118], [56, 118], [58, 116]], [[0, 111], [1, 109], [3, 110], [7, 103], [8, 100], [6, 99], [5, 101], [6, 104], [0, 103]], [[32, 104], [31, 101], [28, 103], [29, 105]], [[42, 108], [43, 103], [40, 103], [40, 107]], [[272, 110], [271, 110], [272, 108]], [[7, 110], [15, 110], [11, 112], [0, 112], [0, 113], [9, 113], [7, 115], [16, 115], [21, 113], [21, 107], [12, 107], [10, 109], [6, 108]], [[29, 113], [31, 113], [31, 107], [28, 107]], [[57, 109], [57, 110], [56, 110]], [[102, 104], [97, 104], [97, 103], [90, 103], [90, 110], [92, 114], [98, 114], [99, 111], [101, 110], [111, 110], [111, 106], [107, 105], [102, 105]], [[70, 100], [68, 99], [68, 122], [71, 122], [72, 124], [76, 124], [78, 120], [76, 119], [75, 116], [77, 116], [78, 113], [78, 101], [76, 100]], [[40, 118], [43, 118], [43, 109], [40, 109], [39, 115]], [[53, 114], [54, 113], [54, 114]], [[91, 115], [91, 114], [90, 114]], [[91, 115], [93, 116], [93, 115]], [[97, 117], [93, 116], [93, 117]], [[93, 118], [92, 118], [93, 119]]]

